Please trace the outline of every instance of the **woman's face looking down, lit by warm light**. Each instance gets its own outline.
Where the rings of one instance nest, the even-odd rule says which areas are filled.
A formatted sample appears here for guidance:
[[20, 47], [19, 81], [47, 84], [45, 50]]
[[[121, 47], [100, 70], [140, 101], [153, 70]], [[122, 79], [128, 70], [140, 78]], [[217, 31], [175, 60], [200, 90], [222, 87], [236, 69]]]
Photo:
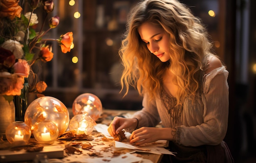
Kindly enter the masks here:
[[169, 43], [170, 36], [159, 26], [148, 22], [138, 28], [141, 40], [144, 41], [148, 50], [157, 56], [162, 62], [170, 59]]

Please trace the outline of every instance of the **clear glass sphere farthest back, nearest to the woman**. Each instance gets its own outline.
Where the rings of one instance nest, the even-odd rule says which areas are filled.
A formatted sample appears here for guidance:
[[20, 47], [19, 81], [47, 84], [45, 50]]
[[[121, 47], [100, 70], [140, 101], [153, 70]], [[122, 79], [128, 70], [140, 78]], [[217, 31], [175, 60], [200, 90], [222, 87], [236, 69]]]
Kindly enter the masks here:
[[102, 113], [101, 100], [91, 93], [79, 95], [73, 102], [72, 112], [73, 115], [90, 115], [94, 121], [97, 121]]

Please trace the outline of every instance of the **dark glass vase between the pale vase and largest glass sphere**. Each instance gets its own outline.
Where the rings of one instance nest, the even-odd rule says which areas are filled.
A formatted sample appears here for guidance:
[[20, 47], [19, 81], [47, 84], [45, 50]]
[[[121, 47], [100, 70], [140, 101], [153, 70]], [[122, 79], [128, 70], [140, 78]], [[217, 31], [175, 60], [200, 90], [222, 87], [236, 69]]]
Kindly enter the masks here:
[[24, 121], [25, 112], [27, 110], [28, 94], [29, 84], [28, 79], [25, 78], [24, 87], [21, 90], [21, 95], [13, 97], [13, 102], [15, 105], [15, 121]]

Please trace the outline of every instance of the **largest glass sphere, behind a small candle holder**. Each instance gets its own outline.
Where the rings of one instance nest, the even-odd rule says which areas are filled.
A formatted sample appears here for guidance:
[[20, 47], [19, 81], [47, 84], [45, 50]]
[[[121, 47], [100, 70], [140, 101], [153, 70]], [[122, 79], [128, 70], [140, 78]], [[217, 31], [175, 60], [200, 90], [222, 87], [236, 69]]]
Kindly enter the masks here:
[[58, 127], [58, 136], [68, 127], [70, 115], [66, 106], [54, 97], [40, 97], [29, 104], [24, 116], [25, 123], [33, 132], [35, 125], [41, 121], [51, 121]]

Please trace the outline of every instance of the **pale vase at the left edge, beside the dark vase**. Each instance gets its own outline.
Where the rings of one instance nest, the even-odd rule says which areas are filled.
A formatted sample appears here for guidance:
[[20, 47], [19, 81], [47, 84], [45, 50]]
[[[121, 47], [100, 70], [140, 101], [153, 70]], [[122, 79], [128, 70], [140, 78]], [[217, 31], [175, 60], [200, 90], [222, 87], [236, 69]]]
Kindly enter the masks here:
[[[8, 96], [7, 96], [8, 97]], [[5, 130], [15, 121], [15, 107], [12, 100], [0, 95], [0, 137], [6, 140]]]

